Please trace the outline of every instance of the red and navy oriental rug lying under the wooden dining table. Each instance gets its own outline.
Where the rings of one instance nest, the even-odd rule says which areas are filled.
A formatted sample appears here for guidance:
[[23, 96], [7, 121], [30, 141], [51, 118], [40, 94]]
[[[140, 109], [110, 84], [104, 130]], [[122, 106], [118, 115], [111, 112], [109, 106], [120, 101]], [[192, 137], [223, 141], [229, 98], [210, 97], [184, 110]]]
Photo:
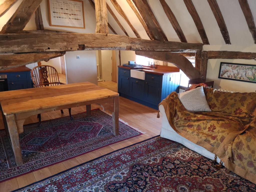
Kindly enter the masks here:
[[[143, 134], [119, 121], [119, 135], [113, 135], [112, 116], [94, 110], [86, 113], [24, 126], [19, 135], [23, 165], [16, 166], [10, 143], [5, 131], [0, 131], [0, 182], [67, 159]], [[0, 190], [1, 191], [1, 190]]]

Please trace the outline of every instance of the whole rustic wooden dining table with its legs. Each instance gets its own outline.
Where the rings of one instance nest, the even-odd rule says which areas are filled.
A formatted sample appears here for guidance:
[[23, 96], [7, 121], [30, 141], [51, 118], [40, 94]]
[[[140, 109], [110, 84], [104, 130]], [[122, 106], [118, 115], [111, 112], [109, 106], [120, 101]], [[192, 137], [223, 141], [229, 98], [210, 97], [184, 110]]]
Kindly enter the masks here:
[[4, 91], [0, 93], [0, 106], [6, 134], [10, 136], [16, 164], [22, 165], [19, 133], [31, 115], [86, 105], [87, 116], [91, 104], [100, 104], [112, 112], [113, 134], [119, 130], [119, 93], [90, 82], [71, 83], [49, 87]]

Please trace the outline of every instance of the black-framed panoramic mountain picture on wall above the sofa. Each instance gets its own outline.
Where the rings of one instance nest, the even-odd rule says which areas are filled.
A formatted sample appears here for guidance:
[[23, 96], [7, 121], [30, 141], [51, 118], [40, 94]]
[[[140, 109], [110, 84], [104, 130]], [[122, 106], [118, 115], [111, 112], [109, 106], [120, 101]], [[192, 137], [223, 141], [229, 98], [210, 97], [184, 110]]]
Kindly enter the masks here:
[[256, 65], [220, 62], [219, 78], [256, 83]]

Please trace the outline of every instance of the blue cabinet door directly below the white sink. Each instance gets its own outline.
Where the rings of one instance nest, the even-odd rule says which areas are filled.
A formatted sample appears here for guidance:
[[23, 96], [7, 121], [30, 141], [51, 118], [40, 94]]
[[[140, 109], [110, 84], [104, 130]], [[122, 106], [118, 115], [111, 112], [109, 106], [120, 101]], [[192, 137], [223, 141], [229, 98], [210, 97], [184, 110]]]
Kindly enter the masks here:
[[130, 94], [138, 99], [144, 98], [144, 81], [139, 79], [132, 79], [130, 81]]

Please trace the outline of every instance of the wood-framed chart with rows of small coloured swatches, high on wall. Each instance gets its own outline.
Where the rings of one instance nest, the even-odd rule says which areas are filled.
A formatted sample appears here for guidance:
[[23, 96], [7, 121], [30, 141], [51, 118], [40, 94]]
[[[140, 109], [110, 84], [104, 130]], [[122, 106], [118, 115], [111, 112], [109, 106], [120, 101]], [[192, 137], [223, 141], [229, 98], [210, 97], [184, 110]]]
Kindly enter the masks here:
[[85, 29], [83, 1], [48, 0], [50, 26]]

